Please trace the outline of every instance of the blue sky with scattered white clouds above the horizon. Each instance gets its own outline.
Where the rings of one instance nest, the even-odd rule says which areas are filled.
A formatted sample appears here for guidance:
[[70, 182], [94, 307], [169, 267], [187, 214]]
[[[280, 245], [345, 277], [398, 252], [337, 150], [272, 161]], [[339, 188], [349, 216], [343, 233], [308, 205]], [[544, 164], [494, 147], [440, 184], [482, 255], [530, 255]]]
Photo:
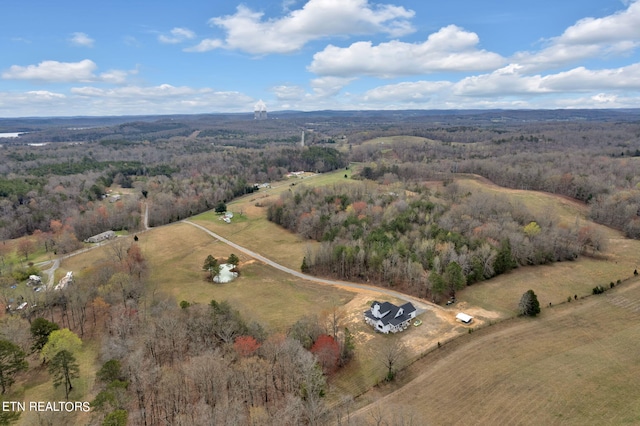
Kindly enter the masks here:
[[3, 0], [0, 117], [640, 107], [640, 0]]

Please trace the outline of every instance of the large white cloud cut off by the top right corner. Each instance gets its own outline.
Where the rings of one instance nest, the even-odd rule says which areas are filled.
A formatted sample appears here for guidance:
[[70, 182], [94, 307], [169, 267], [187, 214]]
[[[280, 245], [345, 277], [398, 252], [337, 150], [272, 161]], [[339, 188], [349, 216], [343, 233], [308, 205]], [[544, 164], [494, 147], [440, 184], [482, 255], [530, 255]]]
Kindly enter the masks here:
[[640, 46], [640, 1], [603, 18], [584, 18], [538, 52], [518, 52], [511, 59], [530, 72], [561, 67], [589, 58], [627, 54]]

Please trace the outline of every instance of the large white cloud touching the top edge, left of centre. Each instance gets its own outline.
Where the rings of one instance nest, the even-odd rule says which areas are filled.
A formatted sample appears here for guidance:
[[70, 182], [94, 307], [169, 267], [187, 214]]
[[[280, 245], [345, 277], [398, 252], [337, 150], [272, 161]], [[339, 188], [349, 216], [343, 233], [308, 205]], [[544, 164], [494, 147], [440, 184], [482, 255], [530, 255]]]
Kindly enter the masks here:
[[240, 5], [235, 14], [209, 21], [226, 32], [224, 43], [209, 39], [208, 49], [198, 45], [191, 50], [224, 47], [263, 55], [292, 53], [309, 41], [330, 36], [386, 33], [399, 37], [414, 31], [409, 22], [413, 16], [412, 10], [402, 6], [374, 6], [368, 0], [309, 0], [301, 9], [275, 19], [264, 19], [262, 12]]

